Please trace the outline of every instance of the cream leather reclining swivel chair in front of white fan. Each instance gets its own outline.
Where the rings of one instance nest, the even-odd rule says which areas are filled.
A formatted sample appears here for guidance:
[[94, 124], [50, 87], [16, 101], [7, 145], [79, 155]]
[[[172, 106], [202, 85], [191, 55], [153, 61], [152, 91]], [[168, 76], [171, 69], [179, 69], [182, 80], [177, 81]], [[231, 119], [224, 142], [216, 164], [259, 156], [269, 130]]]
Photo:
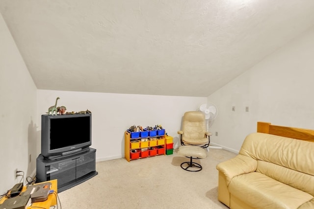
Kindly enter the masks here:
[[181, 145], [209, 147], [211, 133], [206, 130], [205, 115], [202, 112], [184, 113], [182, 130], [178, 131], [178, 134], [180, 134]]

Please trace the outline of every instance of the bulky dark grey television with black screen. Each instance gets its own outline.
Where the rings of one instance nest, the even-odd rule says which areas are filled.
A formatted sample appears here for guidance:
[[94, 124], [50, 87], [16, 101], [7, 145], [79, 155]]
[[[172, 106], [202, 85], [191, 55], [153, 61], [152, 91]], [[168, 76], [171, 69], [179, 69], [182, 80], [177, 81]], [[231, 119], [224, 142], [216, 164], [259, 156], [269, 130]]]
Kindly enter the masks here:
[[49, 159], [77, 154], [92, 144], [92, 115], [42, 115], [41, 154]]

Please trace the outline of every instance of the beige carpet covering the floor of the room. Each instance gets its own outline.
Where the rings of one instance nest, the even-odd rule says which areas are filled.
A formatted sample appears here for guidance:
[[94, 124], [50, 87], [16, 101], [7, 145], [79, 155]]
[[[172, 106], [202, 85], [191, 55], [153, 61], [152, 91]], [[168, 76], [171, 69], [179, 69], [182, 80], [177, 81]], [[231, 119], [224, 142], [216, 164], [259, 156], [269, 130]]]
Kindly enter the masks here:
[[[228, 209], [217, 200], [216, 164], [236, 154], [210, 148], [206, 159], [194, 160], [199, 172], [180, 167], [188, 158], [162, 155], [96, 163], [98, 175], [59, 193], [62, 209]], [[60, 208], [60, 206], [59, 206]]]

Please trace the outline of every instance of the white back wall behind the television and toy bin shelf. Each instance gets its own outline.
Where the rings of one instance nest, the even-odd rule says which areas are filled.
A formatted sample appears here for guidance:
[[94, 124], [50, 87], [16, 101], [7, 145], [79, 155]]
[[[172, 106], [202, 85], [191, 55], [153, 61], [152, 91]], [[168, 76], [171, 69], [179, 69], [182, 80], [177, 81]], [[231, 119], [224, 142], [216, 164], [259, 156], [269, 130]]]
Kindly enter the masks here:
[[[155, 126], [161, 124], [178, 145], [177, 131], [186, 111], [195, 111], [207, 97], [158, 96], [117, 93], [86, 93], [66, 91], [37, 91], [37, 144], [40, 145], [40, 117], [55, 103], [68, 112], [92, 112], [92, 147], [97, 161], [124, 157], [124, 132], [132, 125]], [[79, 131], [79, 130], [69, 130]], [[40, 146], [37, 147], [40, 153]]]

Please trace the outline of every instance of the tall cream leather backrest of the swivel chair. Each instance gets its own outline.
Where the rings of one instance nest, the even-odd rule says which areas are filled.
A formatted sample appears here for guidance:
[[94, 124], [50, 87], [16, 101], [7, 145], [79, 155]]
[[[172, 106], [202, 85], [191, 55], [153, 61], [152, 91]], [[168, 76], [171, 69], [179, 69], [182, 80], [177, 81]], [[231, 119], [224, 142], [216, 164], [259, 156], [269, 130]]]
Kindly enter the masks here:
[[204, 139], [206, 132], [205, 115], [198, 111], [184, 113], [182, 130], [182, 139], [184, 141]]

